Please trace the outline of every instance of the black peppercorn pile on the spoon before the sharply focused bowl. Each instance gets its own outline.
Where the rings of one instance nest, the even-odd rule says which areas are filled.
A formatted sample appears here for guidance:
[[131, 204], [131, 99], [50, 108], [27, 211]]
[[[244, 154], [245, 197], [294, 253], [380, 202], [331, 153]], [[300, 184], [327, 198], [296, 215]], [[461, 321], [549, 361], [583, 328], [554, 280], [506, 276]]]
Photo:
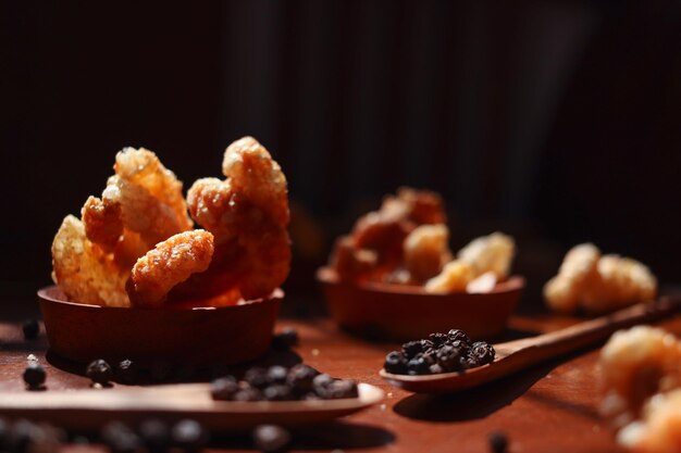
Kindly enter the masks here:
[[334, 379], [311, 366], [249, 368], [242, 380], [225, 376], [213, 380], [212, 395], [223, 401], [301, 401], [357, 398], [357, 383]]

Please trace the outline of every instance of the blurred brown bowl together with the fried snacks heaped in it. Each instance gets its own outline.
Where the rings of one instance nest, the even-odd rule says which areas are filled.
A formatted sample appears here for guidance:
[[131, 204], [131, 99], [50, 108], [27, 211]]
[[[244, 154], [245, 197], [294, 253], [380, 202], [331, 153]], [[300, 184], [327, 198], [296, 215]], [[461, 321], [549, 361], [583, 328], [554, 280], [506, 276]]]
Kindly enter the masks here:
[[336, 240], [317, 273], [332, 317], [376, 339], [424, 338], [459, 328], [498, 337], [524, 288], [510, 277], [512, 238], [474, 239], [453, 259], [442, 198], [400, 188]]

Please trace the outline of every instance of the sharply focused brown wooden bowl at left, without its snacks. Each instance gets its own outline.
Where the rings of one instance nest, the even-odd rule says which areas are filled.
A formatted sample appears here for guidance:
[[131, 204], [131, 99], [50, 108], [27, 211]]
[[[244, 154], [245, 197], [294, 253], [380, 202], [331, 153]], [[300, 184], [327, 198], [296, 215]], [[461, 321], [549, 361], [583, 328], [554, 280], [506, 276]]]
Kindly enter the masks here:
[[121, 309], [70, 302], [55, 286], [38, 291], [51, 351], [82, 363], [248, 362], [268, 351], [283, 297], [276, 289], [265, 299], [218, 309]]

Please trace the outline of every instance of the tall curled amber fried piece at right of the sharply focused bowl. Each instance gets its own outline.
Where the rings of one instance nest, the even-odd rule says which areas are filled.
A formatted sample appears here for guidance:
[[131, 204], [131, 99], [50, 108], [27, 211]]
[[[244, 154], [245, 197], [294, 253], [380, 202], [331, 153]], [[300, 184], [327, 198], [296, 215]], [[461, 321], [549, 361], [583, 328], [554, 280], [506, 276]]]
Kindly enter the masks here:
[[252, 137], [227, 147], [222, 167], [227, 179], [199, 179], [187, 194], [191, 217], [214, 235], [213, 260], [172, 298], [209, 298], [236, 287], [245, 299], [258, 299], [288, 276], [288, 197], [281, 167]]

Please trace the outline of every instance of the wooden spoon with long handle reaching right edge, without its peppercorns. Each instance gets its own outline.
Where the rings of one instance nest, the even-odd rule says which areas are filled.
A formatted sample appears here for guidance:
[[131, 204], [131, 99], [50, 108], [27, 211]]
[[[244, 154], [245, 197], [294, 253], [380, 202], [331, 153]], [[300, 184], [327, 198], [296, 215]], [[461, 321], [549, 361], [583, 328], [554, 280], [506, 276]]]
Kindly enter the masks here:
[[649, 323], [681, 310], [681, 299], [665, 298], [655, 303], [640, 303], [606, 316], [531, 338], [494, 344], [494, 362], [462, 373], [437, 375], [395, 375], [381, 369], [392, 385], [416, 393], [444, 393], [470, 389], [519, 372], [607, 338], [614, 331], [635, 324]]

